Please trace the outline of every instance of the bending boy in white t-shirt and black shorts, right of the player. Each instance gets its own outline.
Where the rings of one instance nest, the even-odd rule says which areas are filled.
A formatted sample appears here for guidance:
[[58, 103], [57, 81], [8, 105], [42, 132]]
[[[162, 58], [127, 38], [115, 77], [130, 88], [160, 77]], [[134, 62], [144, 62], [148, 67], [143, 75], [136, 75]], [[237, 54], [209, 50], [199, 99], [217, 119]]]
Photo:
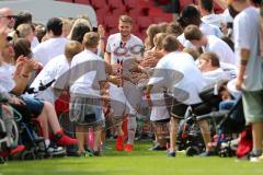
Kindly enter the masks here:
[[[165, 56], [158, 62], [153, 73], [157, 77], [150, 78], [147, 88], [148, 104], [150, 105], [150, 92], [152, 88], [165, 88], [170, 98], [171, 96], [173, 98], [172, 106], [170, 107], [171, 128], [169, 156], [175, 156], [176, 154], [175, 145], [179, 121], [184, 118], [188, 105], [195, 105], [202, 102], [198, 93], [206, 85], [201, 71], [195, 66], [193, 57], [186, 52], [176, 51], [178, 43], [176, 38], [172, 35], [168, 35], [163, 39]], [[207, 137], [204, 137], [207, 143], [209, 140], [206, 138]]]

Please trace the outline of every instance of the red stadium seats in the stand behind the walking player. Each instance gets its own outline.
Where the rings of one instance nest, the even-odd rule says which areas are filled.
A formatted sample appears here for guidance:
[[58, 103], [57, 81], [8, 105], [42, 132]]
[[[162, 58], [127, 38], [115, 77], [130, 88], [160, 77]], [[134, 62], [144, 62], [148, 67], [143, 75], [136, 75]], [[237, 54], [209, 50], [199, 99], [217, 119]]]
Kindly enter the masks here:
[[60, 0], [91, 5], [98, 18], [98, 23], [106, 30], [106, 35], [118, 32], [117, 22], [122, 14], [128, 14], [134, 19], [133, 33], [142, 39], [146, 37], [146, 28], [152, 23], [171, 22], [172, 14], [164, 13], [153, 1], [146, 0]]

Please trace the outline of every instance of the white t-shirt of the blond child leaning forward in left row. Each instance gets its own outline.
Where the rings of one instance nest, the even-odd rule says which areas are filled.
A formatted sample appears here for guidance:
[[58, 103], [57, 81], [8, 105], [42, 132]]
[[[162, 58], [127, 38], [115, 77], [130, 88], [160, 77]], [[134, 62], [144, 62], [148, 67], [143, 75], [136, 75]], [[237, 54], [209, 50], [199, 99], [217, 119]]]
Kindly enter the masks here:
[[[34, 88], [37, 90], [39, 88], [39, 84], [47, 84], [52, 82], [53, 80], [58, 80], [61, 74], [67, 72], [69, 70], [70, 66], [65, 57], [65, 55], [57, 56], [53, 58], [44, 68], [43, 70], [37, 74], [33, 83], [31, 84], [31, 88]], [[66, 82], [65, 82], [66, 83]], [[52, 88], [46, 89], [45, 91], [42, 91], [37, 94], [35, 94], [35, 97], [43, 98], [45, 101], [48, 101], [50, 103], [54, 103], [56, 97], [54, 96]]]

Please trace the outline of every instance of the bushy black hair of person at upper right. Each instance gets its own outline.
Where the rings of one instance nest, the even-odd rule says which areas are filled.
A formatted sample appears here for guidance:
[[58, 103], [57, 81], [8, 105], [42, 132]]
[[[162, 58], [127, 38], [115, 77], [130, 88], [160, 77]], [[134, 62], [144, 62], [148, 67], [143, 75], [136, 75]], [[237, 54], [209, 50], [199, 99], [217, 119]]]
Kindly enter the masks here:
[[201, 24], [201, 13], [192, 4], [183, 8], [181, 12], [181, 16], [178, 20], [181, 26], [184, 28], [190, 24], [195, 24], [199, 26]]

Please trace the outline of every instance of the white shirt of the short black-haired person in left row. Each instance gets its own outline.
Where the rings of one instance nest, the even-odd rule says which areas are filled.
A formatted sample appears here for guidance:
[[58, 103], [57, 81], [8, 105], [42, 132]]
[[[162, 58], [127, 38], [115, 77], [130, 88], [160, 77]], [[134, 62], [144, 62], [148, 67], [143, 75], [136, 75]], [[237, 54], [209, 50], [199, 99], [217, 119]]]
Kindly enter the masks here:
[[33, 49], [34, 58], [45, 66], [54, 57], [65, 54], [67, 43], [65, 37], [49, 38]]

